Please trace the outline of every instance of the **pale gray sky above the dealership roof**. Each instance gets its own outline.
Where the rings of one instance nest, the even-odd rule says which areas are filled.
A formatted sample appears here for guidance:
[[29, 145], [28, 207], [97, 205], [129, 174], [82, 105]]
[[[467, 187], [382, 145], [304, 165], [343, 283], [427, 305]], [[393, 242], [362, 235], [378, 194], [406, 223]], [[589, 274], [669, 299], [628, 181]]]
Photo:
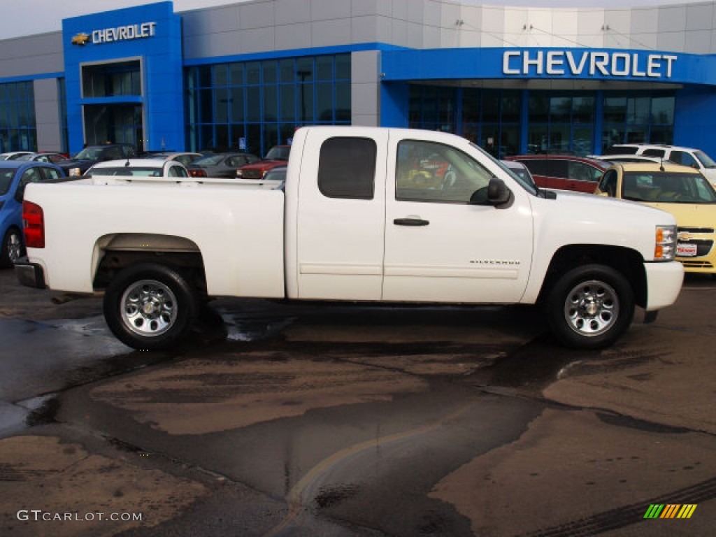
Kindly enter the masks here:
[[[236, 4], [241, 0], [174, 0], [174, 11]], [[475, 4], [532, 7], [607, 7], [693, 4], [699, 0], [465, 0]], [[151, 4], [151, 0], [1, 0], [0, 39], [57, 32], [62, 19], [70, 16], [110, 11], [122, 7]]]

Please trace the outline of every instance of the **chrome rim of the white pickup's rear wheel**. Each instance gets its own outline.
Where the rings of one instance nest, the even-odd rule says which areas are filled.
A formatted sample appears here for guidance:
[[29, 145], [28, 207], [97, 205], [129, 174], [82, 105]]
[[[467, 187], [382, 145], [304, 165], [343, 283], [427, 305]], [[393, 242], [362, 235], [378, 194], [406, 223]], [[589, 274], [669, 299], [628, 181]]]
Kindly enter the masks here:
[[120, 307], [127, 328], [145, 337], [164, 334], [177, 318], [174, 293], [157, 280], [140, 280], [127, 287]]

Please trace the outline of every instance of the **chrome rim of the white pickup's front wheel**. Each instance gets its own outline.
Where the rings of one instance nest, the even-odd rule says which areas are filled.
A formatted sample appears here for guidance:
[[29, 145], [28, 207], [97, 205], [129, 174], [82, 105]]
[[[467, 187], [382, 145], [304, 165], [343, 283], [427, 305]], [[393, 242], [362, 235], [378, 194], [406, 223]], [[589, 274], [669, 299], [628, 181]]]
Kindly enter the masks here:
[[619, 318], [619, 297], [604, 281], [583, 281], [567, 294], [564, 318], [577, 334], [598, 336]]

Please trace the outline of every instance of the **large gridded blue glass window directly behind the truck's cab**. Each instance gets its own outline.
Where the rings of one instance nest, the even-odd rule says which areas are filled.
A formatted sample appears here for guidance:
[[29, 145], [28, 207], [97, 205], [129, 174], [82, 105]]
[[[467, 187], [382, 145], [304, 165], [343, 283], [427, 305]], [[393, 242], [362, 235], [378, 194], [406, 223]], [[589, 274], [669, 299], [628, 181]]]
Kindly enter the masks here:
[[185, 69], [188, 150], [264, 155], [302, 125], [350, 125], [350, 54]]

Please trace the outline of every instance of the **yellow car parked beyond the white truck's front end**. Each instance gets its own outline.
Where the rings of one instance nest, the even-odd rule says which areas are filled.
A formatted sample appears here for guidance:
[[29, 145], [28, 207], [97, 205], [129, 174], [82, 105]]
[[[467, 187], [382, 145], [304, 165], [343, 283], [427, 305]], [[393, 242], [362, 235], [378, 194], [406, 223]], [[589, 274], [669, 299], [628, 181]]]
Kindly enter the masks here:
[[716, 190], [699, 170], [670, 163], [616, 164], [604, 172], [594, 193], [672, 213], [676, 258], [684, 270], [716, 274]]

